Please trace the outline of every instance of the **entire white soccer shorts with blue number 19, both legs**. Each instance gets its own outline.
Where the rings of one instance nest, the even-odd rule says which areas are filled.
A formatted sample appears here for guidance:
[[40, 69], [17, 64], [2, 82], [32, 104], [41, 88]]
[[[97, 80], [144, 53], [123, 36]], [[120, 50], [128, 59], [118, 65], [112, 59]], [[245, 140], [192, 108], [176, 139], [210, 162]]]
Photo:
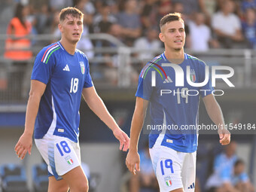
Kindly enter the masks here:
[[183, 188], [194, 192], [197, 151], [183, 153], [165, 146], [149, 149], [160, 192]]

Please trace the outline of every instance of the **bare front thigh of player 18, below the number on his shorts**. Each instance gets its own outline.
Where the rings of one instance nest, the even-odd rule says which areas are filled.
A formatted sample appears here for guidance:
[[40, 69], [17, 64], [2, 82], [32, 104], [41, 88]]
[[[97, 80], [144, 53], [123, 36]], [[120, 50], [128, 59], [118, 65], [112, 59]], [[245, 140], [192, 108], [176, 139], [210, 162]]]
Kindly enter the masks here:
[[75, 167], [71, 171], [67, 172], [65, 175], [62, 175], [62, 178], [69, 184], [70, 190], [88, 190], [88, 180], [84, 174], [81, 166]]

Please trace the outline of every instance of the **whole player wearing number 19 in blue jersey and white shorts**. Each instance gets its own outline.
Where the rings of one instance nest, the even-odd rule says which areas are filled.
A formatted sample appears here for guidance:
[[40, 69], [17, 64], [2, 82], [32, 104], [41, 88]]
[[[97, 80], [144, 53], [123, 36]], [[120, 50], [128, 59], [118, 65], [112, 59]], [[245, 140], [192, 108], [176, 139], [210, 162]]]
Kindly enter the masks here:
[[[230, 142], [230, 133], [224, 128], [221, 108], [210, 82], [194, 86], [205, 80], [206, 64], [184, 53], [181, 14], [167, 14], [160, 20], [159, 38], [164, 43], [164, 53], [148, 62], [139, 77], [126, 166], [133, 174], [139, 171], [139, 135], [149, 105], [149, 150], [160, 191], [194, 191], [200, 96], [209, 117], [220, 127], [221, 145]], [[187, 70], [190, 70], [188, 79]]]

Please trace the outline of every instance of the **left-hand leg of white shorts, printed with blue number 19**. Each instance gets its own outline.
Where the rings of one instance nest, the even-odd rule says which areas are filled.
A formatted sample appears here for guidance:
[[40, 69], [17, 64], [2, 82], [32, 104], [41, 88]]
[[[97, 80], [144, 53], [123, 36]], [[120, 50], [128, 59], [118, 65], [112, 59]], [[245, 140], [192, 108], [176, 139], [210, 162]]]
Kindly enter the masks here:
[[181, 169], [184, 153], [161, 146], [151, 148], [150, 154], [160, 192], [183, 191]]

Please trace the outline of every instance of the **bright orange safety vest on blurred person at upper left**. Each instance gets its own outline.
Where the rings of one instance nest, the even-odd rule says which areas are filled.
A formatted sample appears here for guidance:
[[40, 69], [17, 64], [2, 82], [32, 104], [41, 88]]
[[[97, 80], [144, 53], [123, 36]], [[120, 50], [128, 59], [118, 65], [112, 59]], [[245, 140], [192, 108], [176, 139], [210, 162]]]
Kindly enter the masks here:
[[[14, 34], [18, 39], [7, 38], [5, 41], [5, 58], [13, 60], [28, 60], [32, 58], [32, 51], [30, 48], [30, 40], [26, 38], [31, 32], [31, 25], [26, 22], [26, 28], [20, 23], [17, 17], [14, 17], [9, 23], [7, 35], [11, 34], [11, 26], [14, 28]], [[25, 37], [25, 38], [22, 38]]]

